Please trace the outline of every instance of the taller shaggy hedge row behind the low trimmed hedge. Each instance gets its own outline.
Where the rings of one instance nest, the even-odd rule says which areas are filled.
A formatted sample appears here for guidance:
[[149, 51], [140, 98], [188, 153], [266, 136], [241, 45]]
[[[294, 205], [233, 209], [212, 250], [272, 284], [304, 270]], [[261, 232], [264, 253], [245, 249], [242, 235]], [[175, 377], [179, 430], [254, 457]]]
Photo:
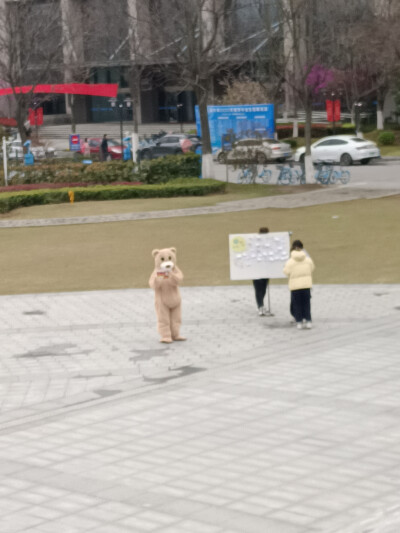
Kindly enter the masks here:
[[[138, 170], [138, 169], [136, 169]], [[105, 185], [114, 182], [166, 183], [171, 179], [199, 177], [200, 156], [187, 154], [168, 156], [143, 162], [140, 172], [135, 172], [131, 161], [108, 161], [85, 165], [80, 162], [61, 162], [18, 166], [10, 168], [11, 185], [32, 183], [90, 183]], [[4, 183], [4, 174], [0, 172]]]

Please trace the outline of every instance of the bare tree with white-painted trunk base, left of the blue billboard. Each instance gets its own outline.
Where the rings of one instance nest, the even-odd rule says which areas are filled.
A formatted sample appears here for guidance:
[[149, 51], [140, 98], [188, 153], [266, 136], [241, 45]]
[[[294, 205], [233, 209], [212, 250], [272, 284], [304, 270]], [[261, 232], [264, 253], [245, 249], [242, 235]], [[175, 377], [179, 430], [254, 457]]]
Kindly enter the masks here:
[[224, 24], [234, 7], [225, 0], [153, 0], [153, 53], [166, 79], [195, 91], [203, 146], [202, 175], [214, 177], [207, 104], [215, 77], [243, 62], [225, 45]]

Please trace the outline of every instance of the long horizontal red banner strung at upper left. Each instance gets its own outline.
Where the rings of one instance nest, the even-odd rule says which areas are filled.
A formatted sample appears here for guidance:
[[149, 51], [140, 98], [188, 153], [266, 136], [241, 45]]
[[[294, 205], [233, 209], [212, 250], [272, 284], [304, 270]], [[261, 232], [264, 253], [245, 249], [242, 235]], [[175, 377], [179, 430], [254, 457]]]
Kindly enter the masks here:
[[107, 96], [115, 98], [118, 83], [59, 83], [56, 85], [25, 85], [23, 87], [7, 87], [0, 89], [0, 96], [27, 93], [83, 94], [87, 96]]

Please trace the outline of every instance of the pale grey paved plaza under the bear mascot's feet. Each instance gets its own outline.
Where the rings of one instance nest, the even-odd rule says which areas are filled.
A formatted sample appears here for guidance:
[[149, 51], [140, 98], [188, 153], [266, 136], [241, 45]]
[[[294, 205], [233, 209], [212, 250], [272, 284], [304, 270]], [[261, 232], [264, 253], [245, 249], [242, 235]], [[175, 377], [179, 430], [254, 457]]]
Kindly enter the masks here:
[[1, 533], [400, 531], [400, 286], [0, 297]]

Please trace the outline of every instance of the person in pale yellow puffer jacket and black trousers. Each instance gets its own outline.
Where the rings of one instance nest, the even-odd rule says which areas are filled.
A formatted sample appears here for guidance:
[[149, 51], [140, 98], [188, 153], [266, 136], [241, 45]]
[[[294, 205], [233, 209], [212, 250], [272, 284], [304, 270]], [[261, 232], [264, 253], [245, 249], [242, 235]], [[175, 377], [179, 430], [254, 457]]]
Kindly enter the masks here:
[[283, 269], [285, 276], [289, 278], [291, 294], [291, 311], [297, 323], [297, 329], [303, 328], [303, 320], [306, 329], [311, 329], [311, 287], [312, 273], [315, 266], [305, 251], [301, 241], [294, 241], [290, 252], [290, 259]]

